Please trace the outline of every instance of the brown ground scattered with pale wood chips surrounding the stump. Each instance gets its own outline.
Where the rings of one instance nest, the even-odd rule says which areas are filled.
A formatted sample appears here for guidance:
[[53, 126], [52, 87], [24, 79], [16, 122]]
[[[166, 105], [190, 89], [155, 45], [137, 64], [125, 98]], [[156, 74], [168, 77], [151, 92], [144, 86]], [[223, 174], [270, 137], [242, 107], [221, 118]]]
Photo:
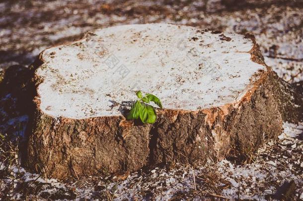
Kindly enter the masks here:
[[0, 200], [279, 200], [282, 194], [303, 200], [302, 123], [284, 123], [277, 140], [241, 163], [176, 164], [73, 183], [25, 171], [19, 151], [28, 124], [22, 107], [27, 67], [45, 48], [91, 29], [134, 23], [250, 32], [267, 65], [303, 92], [302, 8], [300, 0], [0, 0]]

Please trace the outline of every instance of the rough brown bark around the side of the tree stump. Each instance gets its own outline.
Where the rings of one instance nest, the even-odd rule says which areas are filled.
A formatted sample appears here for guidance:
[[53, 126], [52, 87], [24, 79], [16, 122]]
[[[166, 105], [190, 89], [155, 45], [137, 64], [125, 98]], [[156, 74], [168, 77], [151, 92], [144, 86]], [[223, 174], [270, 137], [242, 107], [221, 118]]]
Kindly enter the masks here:
[[[255, 42], [250, 53], [252, 61], [265, 65]], [[302, 110], [290, 101], [294, 97], [300, 105], [300, 94], [269, 67], [258, 76], [236, 104], [197, 111], [157, 110], [152, 125], [123, 116], [53, 118], [39, 109], [35, 98], [27, 166], [47, 177], [71, 179], [250, 154], [281, 133], [283, 120], [302, 118]]]

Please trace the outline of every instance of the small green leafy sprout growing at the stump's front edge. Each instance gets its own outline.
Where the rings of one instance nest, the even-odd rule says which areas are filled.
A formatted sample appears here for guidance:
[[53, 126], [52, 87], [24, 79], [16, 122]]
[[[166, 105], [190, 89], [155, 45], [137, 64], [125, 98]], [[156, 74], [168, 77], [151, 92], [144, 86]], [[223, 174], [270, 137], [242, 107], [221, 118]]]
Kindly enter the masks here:
[[162, 108], [162, 104], [160, 100], [152, 95], [147, 93], [145, 96], [142, 95], [141, 91], [136, 93], [139, 100], [136, 101], [134, 105], [132, 105], [130, 113], [127, 115], [127, 119], [141, 119], [144, 124], [152, 124], [155, 122], [156, 114], [154, 108], [149, 105], [151, 101], [154, 102], [159, 108]]

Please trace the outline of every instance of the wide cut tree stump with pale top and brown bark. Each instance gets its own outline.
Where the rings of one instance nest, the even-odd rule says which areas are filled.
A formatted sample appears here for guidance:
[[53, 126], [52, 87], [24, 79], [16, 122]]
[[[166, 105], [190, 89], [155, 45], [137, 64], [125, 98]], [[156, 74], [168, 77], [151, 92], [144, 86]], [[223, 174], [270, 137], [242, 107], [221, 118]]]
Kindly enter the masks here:
[[[251, 35], [125, 25], [39, 59], [27, 166], [50, 177], [250, 154], [281, 133], [287, 116], [276, 94], [289, 89]], [[154, 124], [126, 120], [136, 90], [161, 100]]]

